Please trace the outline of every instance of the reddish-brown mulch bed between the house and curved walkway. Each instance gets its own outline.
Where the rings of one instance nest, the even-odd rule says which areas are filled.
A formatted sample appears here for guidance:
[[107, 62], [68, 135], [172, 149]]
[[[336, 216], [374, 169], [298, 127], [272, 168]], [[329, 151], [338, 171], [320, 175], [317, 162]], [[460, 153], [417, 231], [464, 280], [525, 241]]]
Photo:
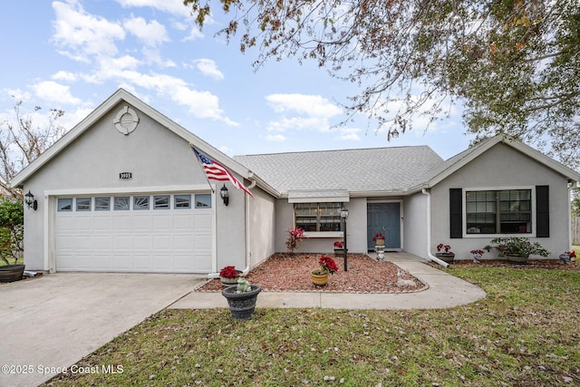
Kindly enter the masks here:
[[[320, 254], [275, 254], [254, 267], [246, 276], [251, 284], [266, 291], [324, 291], [347, 293], [401, 293], [427, 288], [417, 278], [391, 262], [378, 262], [364, 254], [349, 254], [348, 271], [343, 270], [343, 257], [334, 256], [339, 270], [330, 276], [328, 284], [313, 285], [310, 272], [319, 267]], [[399, 280], [405, 281], [405, 285]], [[411, 283], [413, 285], [411, 285]], [[221, 291], [221, 281], [212, 279], [198, 291]]]

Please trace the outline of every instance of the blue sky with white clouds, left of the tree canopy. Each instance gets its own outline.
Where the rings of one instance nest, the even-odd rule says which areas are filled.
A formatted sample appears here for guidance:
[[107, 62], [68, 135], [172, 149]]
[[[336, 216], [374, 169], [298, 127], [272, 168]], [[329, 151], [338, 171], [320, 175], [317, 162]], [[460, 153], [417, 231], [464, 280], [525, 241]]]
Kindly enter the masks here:
[[181, 0], [9, 1], [3, 14], [0, 120], [14, 121], [14, 95], [71, 129], [122, 87], [229, 155], [429, 145], [448, 159], [469, 144], [455, 110], [391, 142], [363, 115], [333, 127], [355, 85], [294, 59], [256, 72], [256, 52], [215, 36], [224, 16], [200, 32]]

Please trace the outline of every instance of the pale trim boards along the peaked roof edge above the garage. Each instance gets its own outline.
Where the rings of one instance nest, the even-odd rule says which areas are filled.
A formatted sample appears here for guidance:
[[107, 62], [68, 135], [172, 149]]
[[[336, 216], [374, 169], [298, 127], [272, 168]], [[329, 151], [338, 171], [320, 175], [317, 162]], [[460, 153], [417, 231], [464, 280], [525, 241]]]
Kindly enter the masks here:
[[249, 171], [245, 166], [239, 164], [235, 160], [232, 160], [226, 154], [212, 147], [208, 144], [208, 142], [201, 140], [198, 138], [198, 136], [186, 130], [175, 121], [169, 120], [169, 118], [167, 118], [165, 115], [161, 114], [159, 111], [154, 110], [147, 103], [140, 101], [140, 99], [132, 95], [130, 92], [119, 89], [117, 92], [114, 92], [106, 101], [102, 102], [101, 105], [99, 105], [81, 122], [75, 125], [71, 131], [66, 132], [60, 140], [53, 144], [53, 146], [51, 146], [48, 150], [45, 150], [43, 154], [41, 154], [36, 160], [21, 170], [11, 181], [12, 186], [22, 187], [26, 179], [29, 179], [34, 175], [34, 173], [42, 169], [46, 163], [48, 163], [50, 160], [53, 160], [53, 158], [56, 157], [61, 151], [63, 151], [69, 144], [81, 137], [85, 131], [91, 130], [92, 126], [97, 121], [101, 120], [104, 115], [108, 114], [121, 102], [126, 102], [139, 111], [142, 111], [144, 114], [147, 114], [152, 120], [159, 122], [161, 127], [174, 132], [183, 140], [192, 143], [198, 150], [207, 154], [211, 159], [217, 160], [219, 163], [227, 167], [227, 169], [236, 172], [238, 175], [243, 176], [246, 179], [252, 178], [252, 172]]

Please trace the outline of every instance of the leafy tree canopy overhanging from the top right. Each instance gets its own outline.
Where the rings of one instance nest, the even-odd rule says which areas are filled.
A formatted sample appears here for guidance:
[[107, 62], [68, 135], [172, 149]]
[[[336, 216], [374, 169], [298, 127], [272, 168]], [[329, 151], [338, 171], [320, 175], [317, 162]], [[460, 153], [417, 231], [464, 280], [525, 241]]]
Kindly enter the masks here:
[[184, 0], [200, 27], [219, 6], [256, 67], [294, 56], [357, 83], [349, 117], [389, 138], [460, 102], [475, 141], [504, 132], [579, 165], [580, 0], [207, 1]]

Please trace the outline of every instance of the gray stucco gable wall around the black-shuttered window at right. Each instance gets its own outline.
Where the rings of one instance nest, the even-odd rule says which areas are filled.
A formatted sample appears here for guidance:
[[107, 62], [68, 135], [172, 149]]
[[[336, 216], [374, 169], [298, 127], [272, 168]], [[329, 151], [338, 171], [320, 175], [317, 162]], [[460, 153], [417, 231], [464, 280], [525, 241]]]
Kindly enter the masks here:
[[[469, 250], [485, 247], [491, 239], [478, 235], [449, 237], [449, 189], [535, 189], [536, 186], [549, 186], [550, 237], [515, 236], [530, 237], [546, 247], [551, 257], [557, 257], [569, 248], [567, 179], [503, 143], [498, 143], [431, 189], [431, 253], [436, 252], [439, 243], [444, 243], [452, 247], [456, 259], [467, 259], [471, 258]], [[533, 217], [532, 223], [535, 223], [535, 214]], [[484, 258], [496, 254], [497, 251], [492, 250]]]

